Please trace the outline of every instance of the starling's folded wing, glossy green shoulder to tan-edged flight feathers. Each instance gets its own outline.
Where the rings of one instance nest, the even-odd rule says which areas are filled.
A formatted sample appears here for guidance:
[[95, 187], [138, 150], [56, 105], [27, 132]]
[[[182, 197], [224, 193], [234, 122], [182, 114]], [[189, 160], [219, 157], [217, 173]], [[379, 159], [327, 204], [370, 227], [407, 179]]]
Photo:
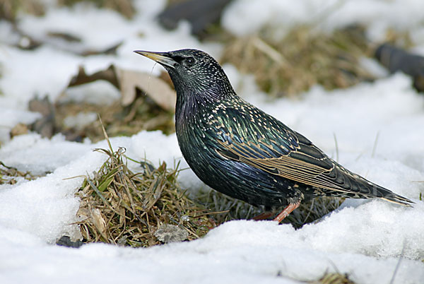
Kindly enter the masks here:
[[307, 138], [269, 114], [255, 108], [255, 122], [250, 123], [249, 117], [234, 119], [240, 118], [240, 112], [232, 115], [232, 111], [226, 109], [225, 116], [221, 116], [227, 117], [220, 122], [227, 126], [220, 129], [217, 150], [223, 158], [321, 189], [370, 194], [369, 189], [356, 184], [356, 179], [362, 179], [360, 183], [367, 183], [367, 187], [372, 186], [371, 182], [338, 165]]

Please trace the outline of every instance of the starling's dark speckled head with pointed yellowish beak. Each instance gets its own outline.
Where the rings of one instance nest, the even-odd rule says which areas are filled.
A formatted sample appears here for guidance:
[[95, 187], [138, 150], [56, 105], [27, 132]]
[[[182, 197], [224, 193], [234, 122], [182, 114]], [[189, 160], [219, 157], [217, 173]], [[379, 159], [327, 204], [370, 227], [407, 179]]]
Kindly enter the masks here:
[[206, 52], [180, 49], [172, 52], [134, 51], [153, 59], [170, 74], [178, 96], [194, 95], [204, 100], [220, 100], [232, 95], [230, 81], [218, 62]]

